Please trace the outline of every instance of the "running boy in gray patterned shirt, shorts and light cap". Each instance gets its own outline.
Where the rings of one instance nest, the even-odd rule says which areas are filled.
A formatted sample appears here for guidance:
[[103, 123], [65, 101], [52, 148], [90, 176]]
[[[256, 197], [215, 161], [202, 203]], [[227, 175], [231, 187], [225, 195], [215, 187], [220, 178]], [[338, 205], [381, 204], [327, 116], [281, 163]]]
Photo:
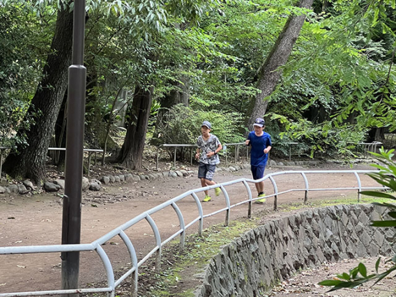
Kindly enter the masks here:
[[[201, 125], [201, 133], [197, 139], [197, 153], [195, 158], [199, 159], [198, 178], [201, 180], [202, 187], [207, 185], [215, 185], [213, 176], [215, 174], [216, 165], [220, 163], [218, 152], [222, 150], [222, 144], [218, 137], [211, 134], [212, 125], [208, 121], [204, 121]], [[202, 153], [199, 153], [202, 151]], [[220, 188], [215, 188], [215, 195], [220, 195]], [[205, 191], [204, 202], [211, 201], [208, 190]]]

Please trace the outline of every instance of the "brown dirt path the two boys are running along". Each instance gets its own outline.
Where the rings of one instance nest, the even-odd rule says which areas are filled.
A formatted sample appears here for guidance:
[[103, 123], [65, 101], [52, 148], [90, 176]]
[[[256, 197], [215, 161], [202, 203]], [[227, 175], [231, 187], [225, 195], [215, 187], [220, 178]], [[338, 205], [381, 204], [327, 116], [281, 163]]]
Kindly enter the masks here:
[[[333, 169], [349, 169], [337, 167]], [[355, 167], [355, 169], [372, 169], [372, 167]], [[283, 169], [284, 170], [284, 169]], [[287, 169], [289, 170], [289, 168]], [[281, 171], [281, 169], [268, 169], [267, 172]], [[250, 178], [247, 169], [229, 173], [219, 172], [215, 181], [223, 183], [236, 178]], [[363, 185], [375, 185], [374, 181], [367, 176], [360, 176]], [[308, 176], [311, 188], [337, 188], [344, 186], [357, 186], [356, 177], [353, 174], [320, 174]], [[289, 188], [303, 188], [303, 178], [293, 174], [277, 176], [275, 178], [278, 190]], [[266, 182], [267, 195], [271, 194], [271, 183]], [[185, 178], [163, 178], [154, 181], [141, 181], [139, 183], [119, 184], [119, 186], [107, 187], [100, 192], [85, 192], [82, 208], [82, 243], [92, 241], [107, 234], [115, 227], [134, 218], [153, 206], [167, 201], [170, 198], [181, 195], [183, 192], [199, 187], [197, 176]], [[254, 185], [250, 185], [255, 194]], [[242, 201], [248, 197], [244, 186], [231, 185], [227, 187], [231, 204]], [[350, 194], [351, 191], [334, 192], [322, 191], [310, 193], [309, 199], [325, 199], [335, 196]], [[203, 197], [203, 195], [201, 195]], [[214, 194], [213, 194], [214, 196]], [[278, 204], [303, 201], [304, 192], [290, 192], [278, 199]], [[109, 203], [112, 197], [112, 202]], [[200, 198], [202, 198], [200, 197]], [[115, 203], [114, 203], [115, 201]], [[197, 207], [191, 198], [178, 204], [185, 215], [185, 223], [197, 217]], [[224, 207], [224, 197], [214, 198], [204, 204], [204, 214], [211, 213]], [[254, 205], [254, 210], [272, 208], [273, 198], [269, 198], [265, 205]], [[232, 208], [231, 219], [247, 215], [247, 205]], [[0, 195], [0, 246], [22, 245], [51, 245], [61, 243], [61, 198], [58, 196], [43, 194], [27, 196]], [[172, 208], [167, 208], [153, 219], [160, 229], [163, 237], [169, 236], [178, 227], [177, 216]], [[224, 213], [214, 215], [204, 220], [204, 227], [209, 224], [224, 222]], [[189, 229], [188, 233], [196, 232], [197, 224]], [[154, 246], [152, 231], [147, 223], [139, 223], [128, 229], [128, 236], [137, 250], [139, 259]], [[128, 252], [119, 238], [113, 238], [103, 246], [109, 254], [113, 268], [119, 269], [130, 262]], [[82, 252], [80, 264], [80, 283], [89, 284], [97, 282], [104, 277], [100, 259], [96, 253]], [[60, 287], [61, 260], [59, 254], [24, 254], [0, 257], [0, 293], [9, 291], [47, 290]]]

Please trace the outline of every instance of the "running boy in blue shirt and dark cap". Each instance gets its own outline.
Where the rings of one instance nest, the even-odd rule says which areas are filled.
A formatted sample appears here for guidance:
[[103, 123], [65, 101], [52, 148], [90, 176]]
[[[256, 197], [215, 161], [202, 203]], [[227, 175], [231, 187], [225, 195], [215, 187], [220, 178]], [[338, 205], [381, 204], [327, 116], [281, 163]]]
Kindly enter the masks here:
[[[271, 135], [264, 132], [266, 122], [264, 119], [256, 119], [253, 124], [254, 131], [250, 132], [245, 144], [252, 146], [250, 151], [250, 169], [252, 170], [253, 179], [260, 179], [264, 176], [264, 169], [266, 169], [268, 152], [271, 151]], [[264, 181], [255, 183], [258, 199], [256, 203], [265, 203], [266, 194], [264, 193]]]

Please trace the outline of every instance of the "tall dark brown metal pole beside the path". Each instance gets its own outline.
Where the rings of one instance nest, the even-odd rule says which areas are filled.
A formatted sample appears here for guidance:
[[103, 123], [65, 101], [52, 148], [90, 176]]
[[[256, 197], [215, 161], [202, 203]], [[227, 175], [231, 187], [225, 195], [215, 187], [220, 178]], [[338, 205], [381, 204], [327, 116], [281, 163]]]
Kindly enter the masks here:
[[[68, 78], [68, 125], [66, 135], [65, 197], [63, 199], [62, 244], [80, 243], [82, 159], [86, 68], [84, 67], [85, 0], [74, 1], [73, 61]], [[62, 289], [77, 289], [79, 252], [63, 252]], [[71, 296], [77, 296], [72, 294]]]

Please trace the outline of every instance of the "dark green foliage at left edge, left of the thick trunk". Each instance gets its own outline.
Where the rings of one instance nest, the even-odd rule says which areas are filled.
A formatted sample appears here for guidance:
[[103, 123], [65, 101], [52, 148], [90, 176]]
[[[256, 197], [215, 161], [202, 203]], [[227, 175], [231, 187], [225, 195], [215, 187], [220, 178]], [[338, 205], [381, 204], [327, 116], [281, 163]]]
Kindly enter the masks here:
[[0, 6], [0, 146], [24, 143], [23, 135], [16, 137], [15, 132], [33, 123], [33, 117], [22, 119], [40, 79], [43, 65], [37, 56], [47, 40], [43, 34], [47, 31], [30, 13]]

